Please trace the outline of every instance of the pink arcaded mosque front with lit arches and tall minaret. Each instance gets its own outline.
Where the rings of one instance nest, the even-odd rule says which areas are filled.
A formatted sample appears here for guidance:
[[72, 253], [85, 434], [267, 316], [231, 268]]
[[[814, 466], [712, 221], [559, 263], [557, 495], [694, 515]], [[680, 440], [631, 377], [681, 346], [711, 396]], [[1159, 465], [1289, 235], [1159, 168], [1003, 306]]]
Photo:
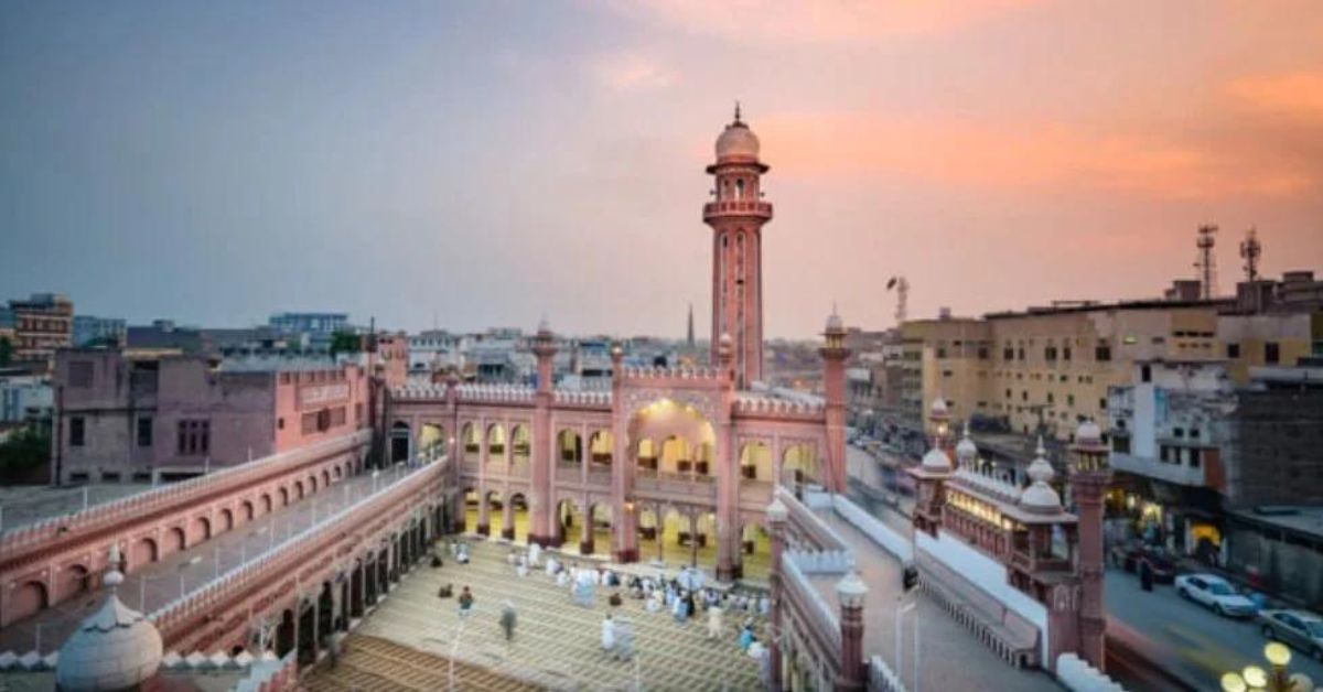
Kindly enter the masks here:
[[561, 390], [544, 322], [536, 386], [450, 376], [389, 393], [389, 430], [380, 434], [392, 449], [459, 460], [450, 504], [467, 511], [458, 524], [620, 562], [688, 558], [729, 580], [746, 564], [766, 576], [765, 509], [778, 482], [844, 488], [844, 324], [827, 320], [824, 397], [762, 384], [762, 239], [773, 205], [758, 136], [738, 107], [714, 159], [703, 205], [712, 228], [710, 367], [626, 367], [614, 348], [609, 390]]

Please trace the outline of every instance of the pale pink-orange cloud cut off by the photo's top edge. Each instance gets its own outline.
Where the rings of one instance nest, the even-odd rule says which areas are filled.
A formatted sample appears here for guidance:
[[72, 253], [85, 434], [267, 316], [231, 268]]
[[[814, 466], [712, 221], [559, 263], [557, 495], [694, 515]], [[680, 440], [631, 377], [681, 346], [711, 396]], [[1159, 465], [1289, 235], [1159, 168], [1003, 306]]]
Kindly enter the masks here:
[[962, 26], [1032, 0], [646, 0], [624, 3], [691, 33], [754, 41], [837, 41], [927, 34]]

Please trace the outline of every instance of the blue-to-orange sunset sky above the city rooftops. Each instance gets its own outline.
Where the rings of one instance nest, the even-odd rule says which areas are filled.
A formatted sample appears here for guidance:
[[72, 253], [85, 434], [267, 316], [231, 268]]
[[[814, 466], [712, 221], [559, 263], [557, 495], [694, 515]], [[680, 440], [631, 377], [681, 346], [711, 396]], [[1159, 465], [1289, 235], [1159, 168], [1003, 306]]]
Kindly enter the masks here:
[[705, 337], [736, 99], [769, 336], [1323, 273], [1318, 0], [9, 0], [0, 298]]

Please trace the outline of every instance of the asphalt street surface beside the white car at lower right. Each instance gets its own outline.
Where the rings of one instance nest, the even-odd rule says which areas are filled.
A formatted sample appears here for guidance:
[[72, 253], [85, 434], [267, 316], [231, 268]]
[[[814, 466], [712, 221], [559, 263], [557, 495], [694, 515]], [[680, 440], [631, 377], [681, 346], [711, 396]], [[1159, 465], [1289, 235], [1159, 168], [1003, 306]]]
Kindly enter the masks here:
[[[1107, 570], [1103, 598], [1109, 628], [1144, 642], [1146, 651], [1155, 652], [1164, 666], [1200, 689], [1217, 689], [1218, 677], [1226, 671], [1252, 663], [1266, 666], [1266, 639], [1258, 625], [1218, 617], [1179, 598], [1171, 586], [1155, 585], [1152, 591], [1144, 591], [1134, 574]], [[1290, 670], [1323, 683], [1323, 663], [1302, 651], [1293, 650]]]

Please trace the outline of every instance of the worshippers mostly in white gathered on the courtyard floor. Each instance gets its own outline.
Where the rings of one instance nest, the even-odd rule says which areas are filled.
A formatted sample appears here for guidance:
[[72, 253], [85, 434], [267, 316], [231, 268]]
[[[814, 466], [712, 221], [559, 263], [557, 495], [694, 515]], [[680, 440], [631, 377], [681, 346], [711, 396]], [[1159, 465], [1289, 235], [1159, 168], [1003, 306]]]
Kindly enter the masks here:
[[[447, 544], [450, 556], [460, 565], [468, 564], [468, 545], [463, 541], [451, 540]], [[758, 660], [763, 675], [769, 673], [770, 656], [767, 646], [759, 636], [759, 625], [765, 623], [770, 610], [771, 599], [766, 591], [736, 586], [714, 586], [706, 584], [706, 576], [691, 566], [680, 568], [672, 576], [658, 574], [631, 574], [617, 572], [598, 564], [579, 565], [577, 561], [564, 562], [554, 553], [545, 553], [537, 544], [527, 549], [512, 548], [507, 554], [513, 574], [527, 578], [536, 570], [541, 570], [546, 577], [553, 578], [561, 589], [569, 590], [570, 601], [582, 607], [594, 607], [597, 590], [610, 590], [610, 606], [619, 607], [624, 603], [624, 597], [640, 601], [644, 613], [669, 614], [677, 625], [687, 625], [691, 619], [705, 617], [706, 636], [712, 640], [732, 638], [732, 643], [750, 658]], [[441, 566], [442, 560], [434, 556], [433, 566]], [[454, 585], [442, 586], [439, 595], [451, 598]], [[463, 586], [458, 602], [460, 617], [470, 617], [474, 611], [474, 594], [470, 587]], [[726, 618], [740, 618], [740, 627], [736, 631], [728, 630]], [[515, 623], [517, 614], [515, 605], [507, 599], [501, 607], [497, 625], [505, 635], [507, 642], [515, 638]], [[607, 611], [602, 619], [601, 631], [602, 651], [615, 660], [631, 660], [634, 658], [634, 628], [626, 618]]]

